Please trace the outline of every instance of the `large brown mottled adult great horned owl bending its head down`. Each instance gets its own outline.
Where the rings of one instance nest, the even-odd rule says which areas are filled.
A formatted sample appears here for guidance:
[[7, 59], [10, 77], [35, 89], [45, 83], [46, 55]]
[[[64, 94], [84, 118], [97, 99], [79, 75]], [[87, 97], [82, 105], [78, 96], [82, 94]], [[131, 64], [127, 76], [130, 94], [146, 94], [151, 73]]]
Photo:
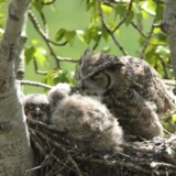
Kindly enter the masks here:
[[158, 117], [175, 109], [158, 74], [131, 56], [87, 50], [78, 66], [78, 81], [84, 92], [101, 97], [127, 134], [146, 139], [161, 135]]

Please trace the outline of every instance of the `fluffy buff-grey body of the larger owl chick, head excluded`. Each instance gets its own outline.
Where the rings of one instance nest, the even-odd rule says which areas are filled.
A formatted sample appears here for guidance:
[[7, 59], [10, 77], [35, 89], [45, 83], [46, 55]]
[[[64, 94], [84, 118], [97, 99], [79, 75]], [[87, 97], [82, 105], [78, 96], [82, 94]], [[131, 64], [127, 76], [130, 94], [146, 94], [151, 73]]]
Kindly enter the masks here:
[[119, 152], [123, 132], [117, 119], [98, 100], [73, 95], [64, 98], [51, 123], [68, 132], [78, 147]]

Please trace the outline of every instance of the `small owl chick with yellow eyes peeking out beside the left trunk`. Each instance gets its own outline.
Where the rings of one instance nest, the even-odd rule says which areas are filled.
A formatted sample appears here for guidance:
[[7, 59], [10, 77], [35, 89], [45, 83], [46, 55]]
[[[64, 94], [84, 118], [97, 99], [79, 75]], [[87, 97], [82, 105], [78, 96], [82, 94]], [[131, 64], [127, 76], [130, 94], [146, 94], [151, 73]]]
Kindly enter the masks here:
[[24, 97], [24, 112], [28, 118], [32, 118], [45, 123], [50, 119], [50, 105], [46, 95], [31, 94]]

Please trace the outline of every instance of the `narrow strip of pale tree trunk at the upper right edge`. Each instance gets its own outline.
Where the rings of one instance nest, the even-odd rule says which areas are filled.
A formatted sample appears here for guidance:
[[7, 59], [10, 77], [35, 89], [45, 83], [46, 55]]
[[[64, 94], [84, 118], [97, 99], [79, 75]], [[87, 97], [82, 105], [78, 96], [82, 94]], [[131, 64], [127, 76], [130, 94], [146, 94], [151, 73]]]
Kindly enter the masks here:
[[176, 78], [176, 0], [165, 0], [162, 30], [166, 33], [170, 50], [170, 59]]

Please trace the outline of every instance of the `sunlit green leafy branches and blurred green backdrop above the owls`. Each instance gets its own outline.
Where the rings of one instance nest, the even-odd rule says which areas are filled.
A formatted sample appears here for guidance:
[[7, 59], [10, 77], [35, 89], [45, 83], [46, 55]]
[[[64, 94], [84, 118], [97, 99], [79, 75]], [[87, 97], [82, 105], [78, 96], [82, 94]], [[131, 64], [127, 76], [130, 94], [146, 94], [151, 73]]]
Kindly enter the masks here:
[[[4, 0], [0, 0], [2, 34], [3, 7]], [[63, 9], [72, 11], [73, 20], [63, 15]], [[161, 30], [163, 12], [161, 0], [32, 0], [28, 33], [33, 33], [25, 47], [25, 64], [26, 69], [46, 72], [41, 75], [35, 70], [29, 79], [35, 80], [40, 74], [38, 80], [47, 85], [59, 81], [76, 85], [75, 65], [88, 46], [95, 52], [134, 55], [147, 61], [163, 78], [172, 79], [167, 38]], [[59, 20], [52, 23], [54, 19]], [[59, 24], [62, 21], [63, 25]], [[33, 66], [34, 59], [37, 67]], [[175, 118], [172, 122], [175, 123]]]

